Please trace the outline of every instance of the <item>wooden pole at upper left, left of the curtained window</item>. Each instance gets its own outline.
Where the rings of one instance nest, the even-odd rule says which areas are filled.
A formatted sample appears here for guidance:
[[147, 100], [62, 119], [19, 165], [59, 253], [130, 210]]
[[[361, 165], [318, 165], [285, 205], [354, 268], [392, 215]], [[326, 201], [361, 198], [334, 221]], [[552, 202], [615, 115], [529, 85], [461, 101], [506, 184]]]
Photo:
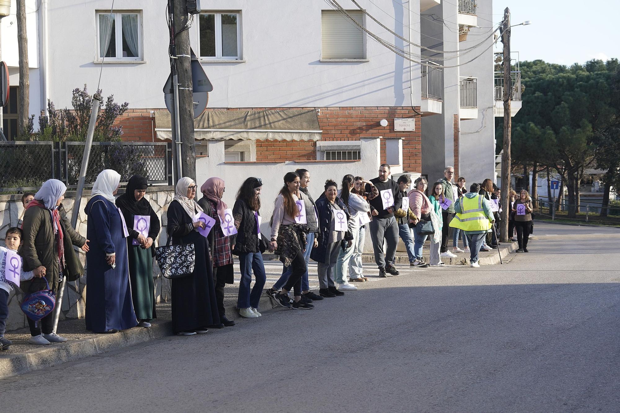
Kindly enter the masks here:
[[17, 48], [19, 51], [19, 104], [17, 112], [17, 135], [22, 135], [30, 115], [30, 79], [28, 70], [28, 36], [26, 33], [25, 0], [17, 0]]

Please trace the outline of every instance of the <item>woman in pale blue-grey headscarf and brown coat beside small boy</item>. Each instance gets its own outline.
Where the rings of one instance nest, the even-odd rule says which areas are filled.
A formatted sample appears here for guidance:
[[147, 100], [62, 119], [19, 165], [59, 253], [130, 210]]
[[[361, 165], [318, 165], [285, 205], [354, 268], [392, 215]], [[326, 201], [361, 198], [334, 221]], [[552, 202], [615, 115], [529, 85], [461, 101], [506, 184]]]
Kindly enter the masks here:
[[[58, 293], [63, 277], [75, 281], [84, 273], [73, 246], [88, 251], [88, 240], [76, 233], [66, 218], [62, 204], [66, 190], [60, 180], [47, 180], [26, 207], [20, 255], [24, 259], [24, 271], [32, 271], [35, 278], [22, 281], [20, 288], [24, 294], [45, 290], [47, 283]], [[31, 344], [46, 345], [67, 340], [52, 332], [51, 313], [38, 324], [28, 319], [28, 324]]]

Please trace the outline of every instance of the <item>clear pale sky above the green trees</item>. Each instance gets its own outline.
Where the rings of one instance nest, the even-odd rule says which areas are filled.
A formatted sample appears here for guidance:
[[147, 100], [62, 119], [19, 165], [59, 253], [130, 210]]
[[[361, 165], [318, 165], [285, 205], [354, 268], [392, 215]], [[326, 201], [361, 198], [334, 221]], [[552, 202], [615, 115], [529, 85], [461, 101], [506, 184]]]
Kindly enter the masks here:
[[[494, 22], [510, 7], [511, 50], [520, 59], [550, 63], [585, 63], [591, 59], [620, 59], [620, 0], [493, 0]], [[500, 51], [497, 42], [496, 51]], [[514, 58], [515, 56], [513, 56]]]

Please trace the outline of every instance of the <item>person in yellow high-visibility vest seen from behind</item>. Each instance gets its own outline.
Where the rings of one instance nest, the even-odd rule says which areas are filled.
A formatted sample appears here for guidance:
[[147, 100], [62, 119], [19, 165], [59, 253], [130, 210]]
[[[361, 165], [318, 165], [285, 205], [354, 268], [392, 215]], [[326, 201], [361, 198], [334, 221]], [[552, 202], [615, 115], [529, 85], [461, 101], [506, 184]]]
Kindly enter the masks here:
[[458, 201], [454, 203], [456, 215], [450, 221], [452, 228], [465, 231], [471, 250], [470, 267], [480, 267], [478, 253], [484, 243], [485, 234], [493, 231], [492, 227], [495, 222], [489, 201], [479, 192], [480, 184], [471, 184], [469, 192], [459, 197]]

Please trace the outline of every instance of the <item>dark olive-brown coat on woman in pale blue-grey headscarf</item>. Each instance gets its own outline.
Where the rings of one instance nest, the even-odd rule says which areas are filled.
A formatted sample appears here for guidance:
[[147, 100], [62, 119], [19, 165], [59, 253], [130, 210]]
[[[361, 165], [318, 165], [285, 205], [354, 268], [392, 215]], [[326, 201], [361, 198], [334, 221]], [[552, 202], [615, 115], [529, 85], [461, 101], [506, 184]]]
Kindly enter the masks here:
[[[82, 277], [84, 266], [73, 246], [83, 246], [86, 238], [73, 229], [63, 205], [58, 207], [58, 213], [60, 213], [60, 224], [63, 230], [64, 262], [66, 264], [64, 276], [67, 277], [68, 281], [75, 281]], [[22, 231], [24, 239], [22, 239], [22, 246], [19, 248], [19, 255], [24, 259], [24, 271], [32, 271], [43, 265], [46, 269], [45, 278], [50, 283], [51, 289], [58, 291], [58, 249], [56, 248], [50, 211], [41, 207], [28, 208], [24, 215]], [[23, 281], [20, 288], [27, 294], [45, 288], [45, 282], [41, 278], [33, 278], [31, 281]]]

